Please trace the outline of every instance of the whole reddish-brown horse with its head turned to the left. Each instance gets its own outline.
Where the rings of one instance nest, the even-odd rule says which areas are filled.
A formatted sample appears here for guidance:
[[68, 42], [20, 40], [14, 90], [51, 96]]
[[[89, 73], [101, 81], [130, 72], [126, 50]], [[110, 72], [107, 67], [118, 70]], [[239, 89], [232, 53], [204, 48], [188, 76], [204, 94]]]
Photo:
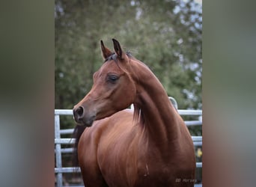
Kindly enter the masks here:
[[150, 69], [113, 43], [101, 41], [105, 62], [73, 108], [85, 186], [194, 186], [189, 130]]

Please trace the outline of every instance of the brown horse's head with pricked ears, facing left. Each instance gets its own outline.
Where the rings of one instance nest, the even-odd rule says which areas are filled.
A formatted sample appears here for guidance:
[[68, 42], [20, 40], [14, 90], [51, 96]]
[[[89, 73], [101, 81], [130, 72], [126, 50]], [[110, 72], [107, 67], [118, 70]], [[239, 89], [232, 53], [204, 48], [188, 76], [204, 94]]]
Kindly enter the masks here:
[[109, 117], [129, 107], [135, 99], [136, 88], [131, 76], [129, 55], [123, 52], [118, 40], [112, 40], [115, 52], [100, 41], [104, 63], [94, 73], [91, 91], [73, 108], [74, 119], [80, 125], [91, 126], [94, 120]]

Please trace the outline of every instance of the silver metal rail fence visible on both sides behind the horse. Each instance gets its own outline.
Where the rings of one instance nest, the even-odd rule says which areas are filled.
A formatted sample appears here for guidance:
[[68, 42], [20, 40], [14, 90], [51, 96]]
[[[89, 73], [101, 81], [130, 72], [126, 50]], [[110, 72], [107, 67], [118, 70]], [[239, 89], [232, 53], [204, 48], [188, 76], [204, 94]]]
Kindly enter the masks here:
[[[178, 110], [180, 115], [188, 115], [188, 116], [201, 116], [201, 110]], [[73, 129], [61, 129], [60, 126], [60, 115], [73, 115], [73, 111], [70, 109], [55, 109], [55, 174], [57, 174], [57, 186], [62, 187], [63, 173], [73, 173], [74, 171], [80, 172], [80, 168], [73, 167], [62, 167], [61, 162], [61, 153], [72, 153], [73, 148], [61, 148], [61, 144], [73, 144], [73, 138], [61, 138], [61, 135], [72, 134]], [[186, 126], [201, 126], [201, 120], [188, 120], [185, 121]], [[202, 137], [201, 136], [192, 136], [192, 140], [194, 146], [202, 145]], [[202, 162], [196, 163], [197, 168], [202, 168]]]

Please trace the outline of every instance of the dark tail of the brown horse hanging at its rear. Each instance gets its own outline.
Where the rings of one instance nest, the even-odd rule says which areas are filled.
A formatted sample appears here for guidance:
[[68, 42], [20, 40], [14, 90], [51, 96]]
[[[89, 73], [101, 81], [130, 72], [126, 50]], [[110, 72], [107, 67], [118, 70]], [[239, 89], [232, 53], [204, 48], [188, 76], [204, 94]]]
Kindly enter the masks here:
[[73, 145], [73, 166], [74, 167], [79, 167], [79, 160], [78, 160], [78, 153], [77, 153], [77, 147], [79, 144], [79, 139], [82, 135], [82, 132], [85, 131], [86, 126], [79, 126], [76, 125], [73, 131], [72, 138], [75, 138], [75, 144]]

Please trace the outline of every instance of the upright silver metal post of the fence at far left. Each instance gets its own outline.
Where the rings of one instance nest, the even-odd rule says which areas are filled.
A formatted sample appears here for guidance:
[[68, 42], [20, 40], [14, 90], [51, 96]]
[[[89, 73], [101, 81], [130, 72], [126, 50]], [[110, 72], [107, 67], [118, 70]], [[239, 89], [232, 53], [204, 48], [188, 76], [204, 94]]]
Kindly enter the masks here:
[[[61, 138], [60, 116], [55, 114], [55, 138]], [[55, 144], [56, 168], [62, 168], [61, 144]], [[62, 173], [57, 174], [57, 186], [62, 187]]]

